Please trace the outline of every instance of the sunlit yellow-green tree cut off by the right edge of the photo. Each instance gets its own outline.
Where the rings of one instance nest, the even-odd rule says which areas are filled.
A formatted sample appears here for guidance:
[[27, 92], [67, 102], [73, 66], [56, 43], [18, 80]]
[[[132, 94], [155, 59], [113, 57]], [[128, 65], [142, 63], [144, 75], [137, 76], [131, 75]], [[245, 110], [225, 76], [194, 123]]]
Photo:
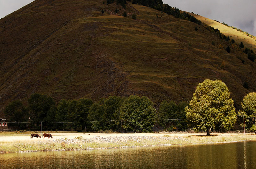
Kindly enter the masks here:
[[[256, 93], [248, 93], [241, 103], [243, 110], [238, 111], [239, 115], [246, 115], [245, 128], [254, 131], [256, 134]], [[241, 124], [243, 126], [243, 124]]]

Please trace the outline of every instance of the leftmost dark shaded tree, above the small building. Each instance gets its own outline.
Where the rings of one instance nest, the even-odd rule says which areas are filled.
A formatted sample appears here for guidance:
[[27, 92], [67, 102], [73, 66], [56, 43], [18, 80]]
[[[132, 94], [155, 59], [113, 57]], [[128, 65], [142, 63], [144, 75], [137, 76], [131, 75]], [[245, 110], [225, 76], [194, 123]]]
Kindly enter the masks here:
[[12, 101], [5, 109], [4, 114], [9, 122], [27, 122], [28, 110], [20, 100]]

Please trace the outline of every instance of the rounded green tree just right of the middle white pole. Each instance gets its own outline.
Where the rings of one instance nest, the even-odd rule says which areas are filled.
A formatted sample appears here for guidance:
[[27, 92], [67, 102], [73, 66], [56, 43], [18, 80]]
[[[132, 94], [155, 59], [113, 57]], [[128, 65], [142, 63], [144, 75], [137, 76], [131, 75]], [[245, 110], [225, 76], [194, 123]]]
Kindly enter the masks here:
[[[129, 131], [152, 131], [156, 111], [152, 101], [146, 97], [131, 95], [120, 108], [120, 118], [124, 119], [123, 128]], [[147, 119], [147, 120], [143, 120]]]

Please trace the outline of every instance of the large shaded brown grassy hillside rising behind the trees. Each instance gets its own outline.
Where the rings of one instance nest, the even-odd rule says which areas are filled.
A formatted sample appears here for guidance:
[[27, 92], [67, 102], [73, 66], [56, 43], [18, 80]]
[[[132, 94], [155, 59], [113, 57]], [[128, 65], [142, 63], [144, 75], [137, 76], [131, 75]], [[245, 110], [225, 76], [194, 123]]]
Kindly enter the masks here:
[[126, 11], [102, 0], [36, 0], [2, 18], [0, 115], [35, 92], [56, 101], [137, 94], [159, 105], [190, 100], [209, 78], [223, 80], [238, 105], [255, 91], [255, 63], [216, 34], [145, 6], [128, 3]]

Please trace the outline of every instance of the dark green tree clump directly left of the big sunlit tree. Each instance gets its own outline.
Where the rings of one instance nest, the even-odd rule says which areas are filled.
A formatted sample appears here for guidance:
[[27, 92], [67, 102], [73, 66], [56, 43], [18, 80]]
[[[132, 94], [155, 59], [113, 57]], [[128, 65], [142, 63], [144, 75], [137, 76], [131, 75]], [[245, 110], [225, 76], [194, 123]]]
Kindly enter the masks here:
[[164, 100], [159, 107], [157, 114], [157, 123], [164, 130], [174, 131], [174, 130], [185, 130], [187, 129], [186, 120], [163, 120], [163, 119], [185, 119], [185, 107], [188, 106], [187, 102], [180, 102], [176, 105], [175, 102], [167, 102]]

